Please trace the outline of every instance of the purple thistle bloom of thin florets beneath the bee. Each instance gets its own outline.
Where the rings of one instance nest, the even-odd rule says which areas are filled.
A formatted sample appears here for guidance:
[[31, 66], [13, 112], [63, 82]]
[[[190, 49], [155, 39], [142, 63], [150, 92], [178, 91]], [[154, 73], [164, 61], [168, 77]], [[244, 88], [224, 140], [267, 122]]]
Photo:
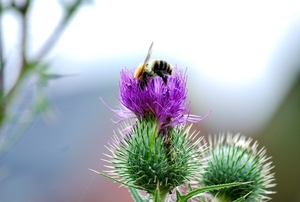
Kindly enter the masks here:
[[[148, 85], [141, 90], [140, 83], [134, 78], [133, 70], [122, 70], [120, 79], [121, 104], [142, 119], [145, 115], [153, 115], [159, 127], [165, 128], [185, 124], [186, 122], [199, 122], [205, 117], [191, 115], [189, 103], [186, 101], [186, 72], [174, 69], [169, 76], [167, 85], [160, 77], [150, 78]], [[113, 110], [124, 119], [132, 118], [132, 113], [120, 108]]]

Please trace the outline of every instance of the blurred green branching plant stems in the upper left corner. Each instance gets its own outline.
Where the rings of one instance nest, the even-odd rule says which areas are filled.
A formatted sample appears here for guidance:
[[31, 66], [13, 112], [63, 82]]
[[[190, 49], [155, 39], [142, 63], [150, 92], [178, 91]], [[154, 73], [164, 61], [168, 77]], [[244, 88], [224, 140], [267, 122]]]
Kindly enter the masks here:
[[[45, 59], [47, 53], [52, 49], [60, 38], [62, 32], [73, 19], [79, 8], [87, 0], [74, 0], [63, 1], [60, 0], [60, 6], [63, 9], [63, 17], [58, 22], [56, 28], [53, 30], [49, 38], [44, 42], [39, 50], [35, 51], [33, 57], [28, 55], [29, 46], [29, 14], [32, 11], [34, 1], [15, 1], [11, 0], [6, 3], [0, 1], [0, 157], [3, 155], [12, 145], [22, 136], [24, 130], [28, 128], [32, 120], [36, 115], [45, 113], [49, 110], [49, 104], [47, 102], [47, 94], [44, 87], [49, 80], [60, 78], [61, 75], [53, 74], [49, 72], [49, 61]], [[8, 65], [6, 61], [9, 56], [4, 55], [3, 47], [3, 16], [7, 11], [14, 11], [20, 16], [19, 26], [21, 28], [19, 58], [20, 63], [18, 65], [19, 74], [16, 82], [10, 89], [5, 89], [4, 81], [6, 70]], [[9, 70], [8, 70], [9, 72]], [[35, 81], [36, 95], [28, 102], [22, 102], [20, 92], [24, 90], [26, 82]], [[22, 105], [22, 111], [16, 111], [16, 108]], [[10, 126], [8, 126], [10, 125]], [[9, 127], [9, 130], [7, 129]]]

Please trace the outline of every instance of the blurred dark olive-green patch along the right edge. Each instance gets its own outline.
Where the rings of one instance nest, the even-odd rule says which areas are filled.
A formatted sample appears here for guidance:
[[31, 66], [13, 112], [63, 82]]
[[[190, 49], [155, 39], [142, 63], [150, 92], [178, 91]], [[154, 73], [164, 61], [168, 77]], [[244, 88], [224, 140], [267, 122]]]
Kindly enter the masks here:
[[267, 148], [275, 165], [277, 194], [272, 196], [272, 201], [299, 201], [300, 75], [257, 140]]

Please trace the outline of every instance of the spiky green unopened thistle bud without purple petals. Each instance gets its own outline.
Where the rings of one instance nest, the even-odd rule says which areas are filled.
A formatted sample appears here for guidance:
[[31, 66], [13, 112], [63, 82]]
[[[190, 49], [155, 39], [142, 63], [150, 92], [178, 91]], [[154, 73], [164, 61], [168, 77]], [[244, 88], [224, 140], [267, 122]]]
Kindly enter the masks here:
[[268, 191], [274, 187], [274, 173], [270, 170], [270, 158], [266, 157], [264, 148], [257, 150], [258, 143], [251, 145], [252, 139], [228, 133], [215, 136], [214, 141], [209, 139], [207, 165], [201, 177], [205, 186], [232, 183], [250, 182], [241, 186], [218, 191], [211, 191], [219, 201], [234, 201], [241, 197], [245, 201], [267, 201]]

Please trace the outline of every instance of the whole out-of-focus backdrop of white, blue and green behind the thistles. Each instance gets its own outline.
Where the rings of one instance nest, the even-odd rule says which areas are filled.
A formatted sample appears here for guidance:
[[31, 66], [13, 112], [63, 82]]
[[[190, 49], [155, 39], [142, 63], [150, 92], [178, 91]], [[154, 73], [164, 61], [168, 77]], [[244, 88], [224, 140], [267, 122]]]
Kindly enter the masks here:
[[[33, 3], [29, 57], [62, 16], [59, 1]], [[20, 17], [6, 12], [1, 23], [9, 89], [18, 75]], [[187, 68], [192, 112], [212, 109], [193, 127], [259, 141], [275, 165], [272, 201], [300, 201], [300, 2], [114, 0], [80, 8], [47, 54], [50, 71], [64, 77], [45, 88], [51, 116], [37, 116], [0, 157], [0, 201], [132, 201], [88, 168], [105, 169], [104, 145], [119, 127], [99, 97], [118, 106], [120, 70], [143, 62], [152, 41], [152, 59]], [[34, 88], [20, 93], [30, 100]]]

